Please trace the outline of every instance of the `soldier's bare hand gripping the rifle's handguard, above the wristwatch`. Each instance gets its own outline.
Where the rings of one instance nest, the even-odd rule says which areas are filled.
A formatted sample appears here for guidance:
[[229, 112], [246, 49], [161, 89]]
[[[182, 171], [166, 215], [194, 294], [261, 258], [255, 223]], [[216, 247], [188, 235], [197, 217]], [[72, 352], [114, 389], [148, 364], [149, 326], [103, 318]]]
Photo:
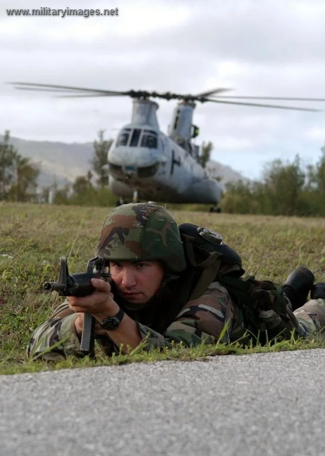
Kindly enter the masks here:
[[70, 309], [75, 313], [91, 314], [99, 322], [116, 315], [119, 307], [113, 299], [110, 284], [101, 279], [92, 279], [92, 285], [95, 291], [88, 296], [67, 296]]

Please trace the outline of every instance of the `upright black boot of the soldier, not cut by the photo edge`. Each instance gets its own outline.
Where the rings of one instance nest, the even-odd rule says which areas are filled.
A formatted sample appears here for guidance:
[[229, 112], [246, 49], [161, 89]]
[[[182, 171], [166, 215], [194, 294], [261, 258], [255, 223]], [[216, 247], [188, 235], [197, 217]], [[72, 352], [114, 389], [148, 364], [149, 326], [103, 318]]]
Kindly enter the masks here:
[[287, 277], [286, 282], [283, 284], [283, 291], [291, 302], [293, 312], [307, 301], [307, 296], [314, 280], [313, 273], [304, 266], [298, 266]]

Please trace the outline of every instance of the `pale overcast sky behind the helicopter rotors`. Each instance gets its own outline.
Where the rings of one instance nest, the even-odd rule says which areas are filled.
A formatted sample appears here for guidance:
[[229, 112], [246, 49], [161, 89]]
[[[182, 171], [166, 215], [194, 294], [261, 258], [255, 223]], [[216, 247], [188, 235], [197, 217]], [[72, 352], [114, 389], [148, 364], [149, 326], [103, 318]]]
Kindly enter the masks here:
[[[132, 100], [58, 99], [17, 91], [8, 81], [111, 90], [325, 98], [323, 0], [57, 0], [50, 8], [118, 8], [118, 16], [8, 16], [39, 0], [0, 0], [0, 125], [22, 139], [93, 141], [128, 123]], [[167, 131], [175, 101], [160, 100]], [[271, 102], [269, 102], [271, 103]], [[276, 102], [279, 104], [279, 102]], [[286, 104], [285, 102], [282, 102]], [[288, 104], [288, 103], [287, 103]], [[214, 143], [213, 159], [259, 178], [281, 158], [316, 163], [325, 141], [325, 101], [291, 102], [323, 112], [198, 104], [197, 143]]]

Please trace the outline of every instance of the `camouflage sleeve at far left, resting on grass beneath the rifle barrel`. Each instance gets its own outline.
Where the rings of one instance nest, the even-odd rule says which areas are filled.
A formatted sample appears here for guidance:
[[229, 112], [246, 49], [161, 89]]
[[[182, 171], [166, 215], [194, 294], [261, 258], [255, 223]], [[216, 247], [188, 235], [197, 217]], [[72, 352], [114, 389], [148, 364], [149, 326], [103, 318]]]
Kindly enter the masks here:
[[80, 352], [80, 340], [74, 328], [75, 318], [65, 300], [48, 321], [35, 329], [27, 346], [27, 357], [60, 361], [69, 355], [78, 358], [85, 356]]

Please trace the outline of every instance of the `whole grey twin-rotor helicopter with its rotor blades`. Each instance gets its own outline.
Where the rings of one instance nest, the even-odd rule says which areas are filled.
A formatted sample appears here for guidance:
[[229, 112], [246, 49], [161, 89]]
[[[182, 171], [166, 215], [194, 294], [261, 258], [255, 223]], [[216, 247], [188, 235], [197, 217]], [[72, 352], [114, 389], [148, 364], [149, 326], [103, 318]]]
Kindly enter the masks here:
[[[193, 125], [195, 102], [214, 102], [258, 107], [316, 111], [305, 107], [239, 102], [238, 99], [271, 99], [290, 101], [325, 101], [319, 98], [283, 98], [220, 95], [230, 89], [214, 89], [196, 95], [147, 92], [144, 90], [113, 91], [34, 83], [10, 83], [21, 90], [61, 92], [59, 97], [128, 96], [133, 99], [131, 122], [122, 127], [108, 151], [109, 188], [125, 199], [155, 200], [166, 203], [213, 204], [210, 211], [219, 212], [222, 189], [199, 163], [199, 146], [193, 143], [198, 127]], [[152, 98], [179, 100], [174, 109], [168, 134], [159, 130]], [[230, 101], [229, 99], [234, 99]]]

